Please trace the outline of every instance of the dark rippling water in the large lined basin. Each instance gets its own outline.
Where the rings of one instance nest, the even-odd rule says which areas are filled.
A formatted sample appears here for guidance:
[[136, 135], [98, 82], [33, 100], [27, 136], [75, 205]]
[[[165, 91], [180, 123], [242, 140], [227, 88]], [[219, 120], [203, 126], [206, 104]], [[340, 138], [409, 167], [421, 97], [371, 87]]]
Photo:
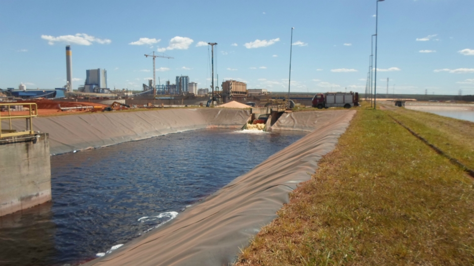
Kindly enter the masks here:
[[0, 217], [0, 265], [77, 265], [97, 258], [303, 135], [198, 130], [53, 156], [52, 202]]

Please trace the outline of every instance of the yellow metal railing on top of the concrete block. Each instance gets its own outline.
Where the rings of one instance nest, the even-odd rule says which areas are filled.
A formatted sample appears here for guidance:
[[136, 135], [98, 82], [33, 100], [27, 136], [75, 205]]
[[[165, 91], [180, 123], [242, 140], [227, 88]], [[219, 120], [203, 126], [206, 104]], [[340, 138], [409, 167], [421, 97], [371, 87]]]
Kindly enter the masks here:
[[[29, 115], [12, 115], [11, 111], [11, 106], [28, 106], [29, 107]], [[35, 132], [33, 131], [33, 117], [38, 116], [38, 105], [36, 103], [19, 103], [19, 102], [14, 102], [14, 103], [0, 103], [0, 109], [3, 109], [4, 106], [8, 108], [8, 116], [2, 115], [2, 113], [5, 112], [0, 112], [0, 138], [1, 137], [8, 137], [8, 136], [19, 136], [19, 135], [33, 135]], [[22, 112], [22, 111], [13, 111], [15, 112]], [[24, 111], [23, 111], [24, 112]], [[16, 131], [12, 129], [11, 127], [11, 120], [12, 119], [17, 119], [17, 118], [25, 118], [26, 119], [26, 131]], [[3, 120], [8, 120], [10, 124], [10, 129], [2, 129], [1, 128], [1, 122]]]

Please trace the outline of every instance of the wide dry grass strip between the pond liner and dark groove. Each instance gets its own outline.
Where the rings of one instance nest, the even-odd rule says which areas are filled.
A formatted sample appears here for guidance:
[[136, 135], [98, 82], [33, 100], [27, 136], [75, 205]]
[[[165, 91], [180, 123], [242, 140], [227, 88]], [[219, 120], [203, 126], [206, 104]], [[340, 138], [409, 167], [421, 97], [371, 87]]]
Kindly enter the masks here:
[[359, 110], [290, 199], [237, 265], [474, 264], [473, 179], [387, 111]]

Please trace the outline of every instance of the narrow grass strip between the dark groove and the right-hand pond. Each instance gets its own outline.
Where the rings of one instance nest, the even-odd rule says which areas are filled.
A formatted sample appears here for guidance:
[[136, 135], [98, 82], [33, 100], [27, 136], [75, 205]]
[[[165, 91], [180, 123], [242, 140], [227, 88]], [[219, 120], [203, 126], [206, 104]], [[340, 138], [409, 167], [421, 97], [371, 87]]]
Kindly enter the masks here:
[[474, 169], [474, 123], [405, 108], [388, 113], [449, 156]]

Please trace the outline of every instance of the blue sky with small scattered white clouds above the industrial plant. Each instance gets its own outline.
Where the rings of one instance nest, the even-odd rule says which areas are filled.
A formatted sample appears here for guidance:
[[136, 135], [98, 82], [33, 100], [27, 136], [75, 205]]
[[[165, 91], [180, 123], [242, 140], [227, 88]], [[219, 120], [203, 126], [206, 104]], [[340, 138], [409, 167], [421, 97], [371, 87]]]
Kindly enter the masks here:
[[[107, 70], [111, 89], [187, 75], [215, 86], [364, 93], [375, 34], [375, 0], [1, 0], [0, 88], [60, 88], [71, 45], [73, 88], [86, 69]], [[380, 1], [377, 91], [474, 94], [474, 1]], [[291, 41], [291, 28], [293, 36]], [[373, 54], [375, 57], [375, 38]], [[375, 62], [374, 62], [375, 68]], [[215, 79], [217, 79], [217, 75]]]

